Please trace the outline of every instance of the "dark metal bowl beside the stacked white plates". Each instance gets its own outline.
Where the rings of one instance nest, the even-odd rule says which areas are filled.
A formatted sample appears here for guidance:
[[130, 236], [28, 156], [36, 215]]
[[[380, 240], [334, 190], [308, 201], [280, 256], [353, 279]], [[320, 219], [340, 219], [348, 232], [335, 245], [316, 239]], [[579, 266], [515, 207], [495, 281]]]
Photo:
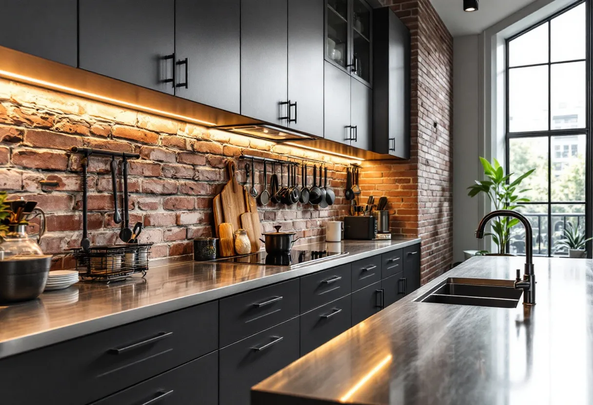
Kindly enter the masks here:
[[17, 256], [0, 261], [0, 302], [33, 300], [43, 293], [52, 255]]

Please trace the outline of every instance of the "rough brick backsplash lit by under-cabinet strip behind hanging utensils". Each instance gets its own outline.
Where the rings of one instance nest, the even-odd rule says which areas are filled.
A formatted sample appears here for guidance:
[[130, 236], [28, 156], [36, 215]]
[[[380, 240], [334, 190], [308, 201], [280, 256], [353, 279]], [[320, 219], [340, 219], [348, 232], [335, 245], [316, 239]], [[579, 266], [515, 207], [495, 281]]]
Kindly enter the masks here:
[[[325, 221], [340, 220], [347, 212], [348, 160], [0, 80], [0, 190], [39, 201], [46, 211], [41, 245], [56, 255], [54, 268], [72, 267], [63, 252], [79, 246], [82, 234], [81, 155], [68, 152], [72, 146], [141, 155], [129, 161], [130, 225], [144, 223], [140, 240], [154, 243], [153, 258], [189, 254], [191, 239], [211, 236], [212, 197], [228, 180], [225, 163], [241, 153], [323, 160], [333, 179], [337, 198], [330, 208], [260, 207], [266, 232], [279, 224], [307, 242], [324, 235]], [[88, 229], [97, 245], [118, 241], [109, 163], [109, 157], [91, 156], [88, 168]], [[243, 167], [244, 161], [238, 163], [240, 181]], [[259, 185], [261, 163], [256, 173]], [[310, 185], [311, 174], [310, 169]], [[58, 181], [59, 187], [42, 189], [43, 179]]]

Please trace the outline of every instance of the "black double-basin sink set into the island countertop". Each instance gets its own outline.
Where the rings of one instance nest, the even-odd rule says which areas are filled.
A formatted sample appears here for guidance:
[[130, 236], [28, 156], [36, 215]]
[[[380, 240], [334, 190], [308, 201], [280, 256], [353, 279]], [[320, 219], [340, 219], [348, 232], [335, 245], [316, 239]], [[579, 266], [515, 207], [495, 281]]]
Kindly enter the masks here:
[[456, 304], [479, 307], [516, 308], [522, 290], [512, 280], [448, 278], [431, 291], [416, 298], [420, 303]]

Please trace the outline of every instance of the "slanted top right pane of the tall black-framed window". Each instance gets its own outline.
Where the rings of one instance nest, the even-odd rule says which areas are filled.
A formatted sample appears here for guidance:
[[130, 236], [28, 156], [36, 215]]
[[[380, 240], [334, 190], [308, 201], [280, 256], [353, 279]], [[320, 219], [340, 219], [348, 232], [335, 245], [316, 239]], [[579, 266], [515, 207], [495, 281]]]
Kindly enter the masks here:
[[585, 3], [551, 21], [551, 61], [585, 59]]

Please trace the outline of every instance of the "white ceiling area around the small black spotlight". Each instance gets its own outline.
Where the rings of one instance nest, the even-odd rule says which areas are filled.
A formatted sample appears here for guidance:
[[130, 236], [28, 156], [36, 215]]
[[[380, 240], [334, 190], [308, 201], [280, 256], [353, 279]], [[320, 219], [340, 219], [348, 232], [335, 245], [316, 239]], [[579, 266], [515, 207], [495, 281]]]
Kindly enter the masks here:
[[431, 0], [454, 37], [477, 34], [535, 0], [480, 0], [478, 11], [463, 11], [463, 0]]

